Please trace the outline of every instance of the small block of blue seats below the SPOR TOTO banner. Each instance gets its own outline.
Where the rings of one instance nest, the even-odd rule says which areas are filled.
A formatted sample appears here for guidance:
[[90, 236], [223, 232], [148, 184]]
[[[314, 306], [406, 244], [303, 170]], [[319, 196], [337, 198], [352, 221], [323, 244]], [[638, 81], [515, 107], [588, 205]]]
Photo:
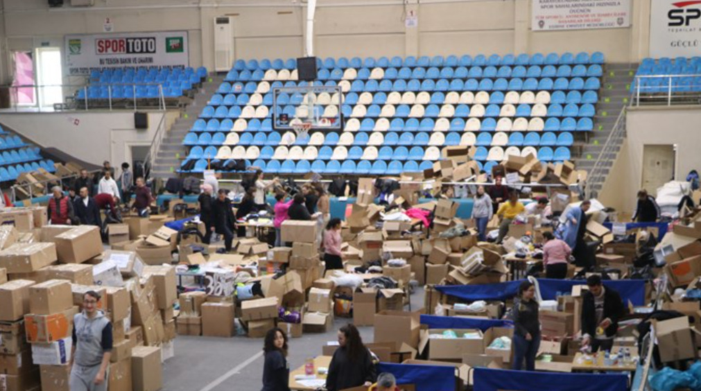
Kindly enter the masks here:
[[[112, 104], [119, 104], [119, 102], [133, 102], [133, 100], [158, 99], [161, 97], [161, 90], [165, 100], [172, 100], [190, 95], [190, 91], [206, 76], [205, 67], [198, 69], [124, 67], [93, 70], [90, 73], [87, 88], [77, 90], [75, 100], [79, 108], [84, 107], [86, 99], [88, 106], [104, 106], [109, 103], [109, 100]], [[224, 104], [224, 102], [220, 101], [218, 104]]]

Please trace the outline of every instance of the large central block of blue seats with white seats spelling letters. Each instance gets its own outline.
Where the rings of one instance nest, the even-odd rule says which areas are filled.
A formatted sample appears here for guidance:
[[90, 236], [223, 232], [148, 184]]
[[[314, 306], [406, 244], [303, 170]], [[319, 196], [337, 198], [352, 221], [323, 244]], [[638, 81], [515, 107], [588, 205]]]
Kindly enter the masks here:
[[[196, 160], [198, 172], [210, 156], [283, 174], [396, 173], [428, 167], [448, 145], [477, 146], [481, 167], [510, 154], [562, 161], [576, 133], [594, 128], [603, 62], [601, 53], [320, 59], [319, 82], [343, 92], [343, 128], [296, 139], [272, 126], [273, 88], [308, 85], [294, 59], [238, 60], [186, 135], [182, 165]], [[322, 95], [329, 116], [334, 106], [323, 104], [340, 97]], [[302, 99], [281, 93], [278, 112], [293, 118]]]

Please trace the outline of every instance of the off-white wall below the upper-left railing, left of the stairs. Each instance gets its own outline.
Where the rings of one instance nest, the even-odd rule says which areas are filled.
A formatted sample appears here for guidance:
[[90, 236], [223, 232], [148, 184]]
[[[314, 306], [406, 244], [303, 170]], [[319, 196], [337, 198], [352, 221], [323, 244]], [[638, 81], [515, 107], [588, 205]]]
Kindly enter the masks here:
[[[131, 145], [150, 146], [164, 114], [149, 112], [149, 128], [136, 130], [129, 113], [3, 114], [0, 123], [13, 128], [40, 146], [53, 146], [88, 163], [117, 166], [131, 161]], [[179, 114], [165, 114], [167, 129]]]

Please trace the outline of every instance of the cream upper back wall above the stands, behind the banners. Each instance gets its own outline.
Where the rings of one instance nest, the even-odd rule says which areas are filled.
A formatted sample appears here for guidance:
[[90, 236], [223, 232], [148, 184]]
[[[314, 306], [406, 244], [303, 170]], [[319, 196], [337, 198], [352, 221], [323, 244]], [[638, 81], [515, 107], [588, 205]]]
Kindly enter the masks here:
[[[234, 21], [237, 58], [297, 57], [304, 53], [306, 8], [289, 0], [96, 0], [92, 8], [48, 8], [46, 0], [0, 0], [0, 76], [9, 54], [42, 45], [62, 46], [66, 34], [186, 30], [190, 63], [213, 67], [212, 20]], [[477, 53], [604, 52], [609, 62], [637, 62], [648, 51], [649, 4], [633, 0], [632, 27], [592, 31], [531, 32], [529, 0], [319, 0], [315, 54], [320, 57], [462, 55]], [[408, 11], [418, 28], [404, 27]], [[2, 27], [4, 26], [4, 30]]]

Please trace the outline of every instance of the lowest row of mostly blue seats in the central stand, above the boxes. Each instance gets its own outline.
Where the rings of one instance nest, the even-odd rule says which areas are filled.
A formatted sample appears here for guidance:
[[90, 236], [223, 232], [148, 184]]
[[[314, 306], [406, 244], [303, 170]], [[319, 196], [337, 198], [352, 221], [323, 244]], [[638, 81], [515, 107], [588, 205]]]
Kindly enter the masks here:
[[[516, 149], [516, 147], [510, 147]], [[526, 156], [531, 153], [538, 153], [538, 158], [542, 161], [552, 161], [552, 162], [562, 162], [564, 160], [569, 160], [569, 150], [563, 147], [553, 151], [550, 147], [544, 146], [538, 151], [531, 149], [531, 147], [526, 147], [522, 151], [521, 156]], [[436, 153], [432, 151], [432, 153]], [[438, 152], [440, 155], [440, 151]], [[509, 153], [519, 154], [518, 151], [504, 151], [501, 147], [495, 146], [490, 151], [487, 151], [484, 147], [480, 146], [477, 148], [475, 153], [475, 160], [479, 164], [480, 169], [491, 170], [491, 167], [498, 164], [499, 161], [503, 160]], [[525, 155], [523, 154], [525, 153]], [[343, 160], [343, 163], [341, 163]], [[307, 174], [308, 172], [318, 172], [322, 174], [400, 174], [400, 172], [416, 172], [419, 170], [426, 170], [427, 168], [433, 167], [434, 161], [433, 156], [431, 158], [421, 158], [407, 161], [400, 160], [360, 160], [358, 163], [355, 160], [349, 160], [347, 158], [339, 158], [336, 160], [298, 160], [296, 163], [294, 160], [245, 160], [246, 166], [251, 165], [255, 167], [260, 167], [264, 172], [272, 174]], [[215, 162], [226, 162], [227, 160], [211, 160], [212, 163]], [[185, 165], [188, 160], [183, 162]], [[484, 166], [482, 165], [484, 163]], [[207, 160], [205, 158], [198, 158], [195, 160], [195, 165], [192, 170], [179, 170], [179, 172], [203, 172], [207, 168]]]

